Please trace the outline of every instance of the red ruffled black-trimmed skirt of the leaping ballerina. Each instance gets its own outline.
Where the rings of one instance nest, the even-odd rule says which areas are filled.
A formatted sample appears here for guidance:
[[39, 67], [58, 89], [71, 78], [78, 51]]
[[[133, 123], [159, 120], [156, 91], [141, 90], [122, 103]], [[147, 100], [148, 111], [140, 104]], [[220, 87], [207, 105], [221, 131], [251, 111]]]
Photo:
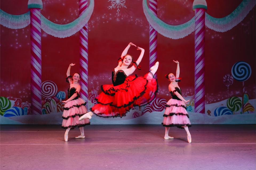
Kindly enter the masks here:
[[158, 91], [157, 80], [149, 72], [144, 77], [128, 76], [125, 82], [101, 86], [97, 104], [91, 111], [100, 117], [123, 117], [134, 106], [143, 106], [154, 100]]

